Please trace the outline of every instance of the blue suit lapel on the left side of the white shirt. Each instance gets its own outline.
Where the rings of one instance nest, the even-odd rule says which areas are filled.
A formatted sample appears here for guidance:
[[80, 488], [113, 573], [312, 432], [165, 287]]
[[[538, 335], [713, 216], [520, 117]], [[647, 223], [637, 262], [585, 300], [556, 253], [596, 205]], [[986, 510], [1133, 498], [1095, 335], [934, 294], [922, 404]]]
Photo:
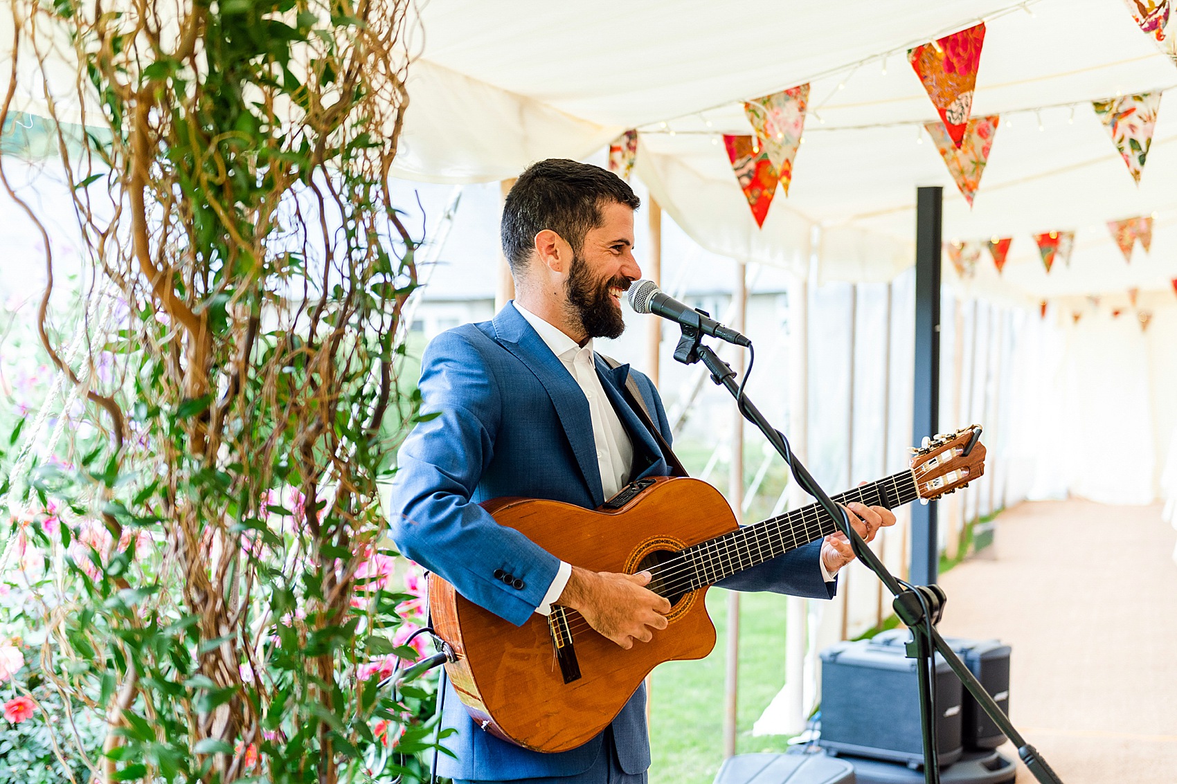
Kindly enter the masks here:
[[593, 504], [600, 506], [605, 503], [605, 491], [600, 484], [592, 414], [580, 385], [513, 304], [508, 303], [499, 311], [493, 324], [499, 344], [526, 365], [547, 391]]

